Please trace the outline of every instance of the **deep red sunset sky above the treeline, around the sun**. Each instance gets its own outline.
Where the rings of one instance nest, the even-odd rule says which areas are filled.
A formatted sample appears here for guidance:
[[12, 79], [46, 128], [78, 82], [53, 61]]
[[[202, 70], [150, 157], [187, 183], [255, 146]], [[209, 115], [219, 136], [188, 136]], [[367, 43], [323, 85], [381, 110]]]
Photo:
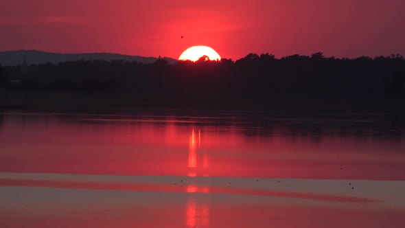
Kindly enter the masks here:
[[0, 51], [405, 55], [404, 12], [403, 0], [1, 0]]

